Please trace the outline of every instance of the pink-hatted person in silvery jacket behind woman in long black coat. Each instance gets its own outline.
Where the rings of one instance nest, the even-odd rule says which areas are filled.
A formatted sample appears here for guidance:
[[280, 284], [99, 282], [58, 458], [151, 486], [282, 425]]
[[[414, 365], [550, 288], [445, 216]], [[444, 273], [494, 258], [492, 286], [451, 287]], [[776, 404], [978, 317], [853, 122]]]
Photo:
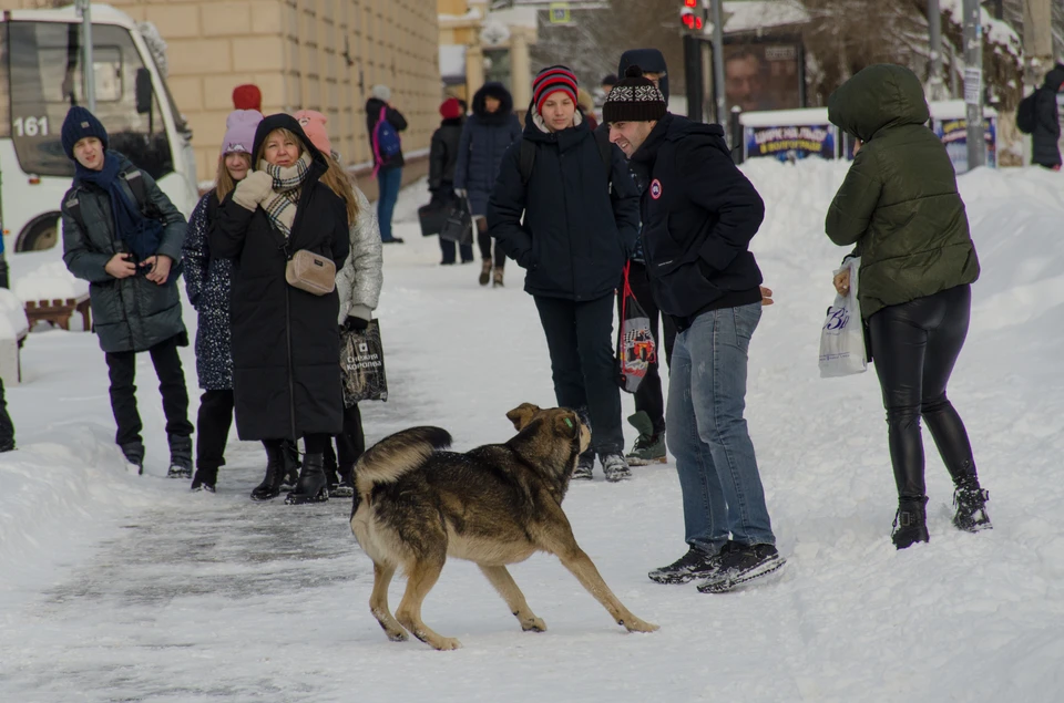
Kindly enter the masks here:
[[[344, 167], [340, 166], [340, 155], [332, 148], [325, 127], [328, 117], [314, 110], [300, 110], [293, 116], [299, 122], [307, 138], [329, 163], [329, 170], [321, 177], [321, 182], [344, 198], [348, 207], [351, 252], [344, 268], [336, 272], [336, 290], [340, 296], [340, 314], [337, 322], [341, 328], [365, 330], [374, 317], [374, 310], [377, 309], [382, 282], [383, 258], [377, 218], [369, 207], [369, 200], [351, 183]], [[358, 403], [350, 407], [345, 406], [344, 431], [336, 437], [336, 454], [339, 455], [338, 462], [331, 446], [325, 453], [325, 474], [329, 484], [329, 497], [350, 497], [355, 495], [355, 463], [366, 451], [366, 436], [362, 433], [362, 416]]]

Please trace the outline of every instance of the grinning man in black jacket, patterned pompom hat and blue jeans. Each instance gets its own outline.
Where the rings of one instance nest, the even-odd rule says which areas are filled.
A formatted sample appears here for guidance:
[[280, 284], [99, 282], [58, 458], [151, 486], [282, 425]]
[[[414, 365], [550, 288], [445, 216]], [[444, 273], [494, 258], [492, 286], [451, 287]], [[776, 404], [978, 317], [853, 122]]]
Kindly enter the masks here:
[[649, 577], [705, 578], [702, 592], [730, 590], [784, 565], [743, 417], [747, 352], [761, 317], [761, 272], [748, 247], [765, 206], [732, 162], [720, 126], [668, 114], [638, 66], [610, 92], [603, 120], [648, 184], [643, 254], [654, 299], [677, 329], [666, 421], [689, 550]]

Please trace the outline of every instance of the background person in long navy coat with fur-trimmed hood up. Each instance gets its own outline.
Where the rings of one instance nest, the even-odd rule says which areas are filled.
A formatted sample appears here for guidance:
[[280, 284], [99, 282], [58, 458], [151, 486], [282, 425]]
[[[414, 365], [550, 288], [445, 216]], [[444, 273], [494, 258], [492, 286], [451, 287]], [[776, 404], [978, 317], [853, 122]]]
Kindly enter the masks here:
[[480, 245], [480, 285], [493, 279], [503, 285], [507, 254], [498, 244], [491, 254], [491, 232], [488, 229], [488, 199], [495, 187], [499, 166], [507, 148], [521, 138], [521, 122], [513, 114], [513, 96], [502, 83], [485, 83], [473, 94], [473, 114], [466, 121], [458, 145], [458, 165], [454, 168], [454, 189], [459, 197], [468, 197], [477, 223]]

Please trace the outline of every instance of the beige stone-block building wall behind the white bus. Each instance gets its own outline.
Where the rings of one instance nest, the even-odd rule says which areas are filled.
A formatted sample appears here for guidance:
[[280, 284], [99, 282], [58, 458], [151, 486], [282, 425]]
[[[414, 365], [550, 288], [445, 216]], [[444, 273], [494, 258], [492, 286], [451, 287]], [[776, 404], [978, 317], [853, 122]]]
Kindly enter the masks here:
[[[8, 9], [70, 4], [0, 0]], [[439, 27], [431, 0], [108, 0], [166, 42], [167, 84], [193, 130], [196, 170], [214, 178], [233, 89], [258, 85], [263, 112], [317, 110], [349, 165], [371, 161], [366, 100], [391, 89], [410, 123], [405, 152], [439, 124]], [[366, 180], [365, 178], [362, 179]], [[369, 184], [365, 184], [369, 185]]]

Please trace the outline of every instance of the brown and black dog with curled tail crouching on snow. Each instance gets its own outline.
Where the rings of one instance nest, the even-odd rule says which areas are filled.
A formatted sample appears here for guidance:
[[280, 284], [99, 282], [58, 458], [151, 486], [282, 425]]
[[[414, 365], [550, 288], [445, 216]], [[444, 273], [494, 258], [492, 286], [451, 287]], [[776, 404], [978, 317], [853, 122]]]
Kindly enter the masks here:
[[[630, 632], [653, 632], [602, 580], [576, 544], [562, 499], [591, 432], [570, 410], [540, 410], [525, 403], [507, 413], [519, 431], [505, 444], [459, 454], [443, 452], [451, 436], [439, 427], [412, 427], [385, 437], [355, 468], [351, 531], [374, 560], [369, 608], [392, 641], [407, 630], [438, 650], [461, 647], [421, 621], [421, 603], [447, 557], [477, 562], [525, 631], [546, 624], [529, 608], [505, 565], [549, 551]], [[388, 609], [388, 585], [397, 568], [407, 590]], [[406, 630], [403, 629], [406, 628]]]

